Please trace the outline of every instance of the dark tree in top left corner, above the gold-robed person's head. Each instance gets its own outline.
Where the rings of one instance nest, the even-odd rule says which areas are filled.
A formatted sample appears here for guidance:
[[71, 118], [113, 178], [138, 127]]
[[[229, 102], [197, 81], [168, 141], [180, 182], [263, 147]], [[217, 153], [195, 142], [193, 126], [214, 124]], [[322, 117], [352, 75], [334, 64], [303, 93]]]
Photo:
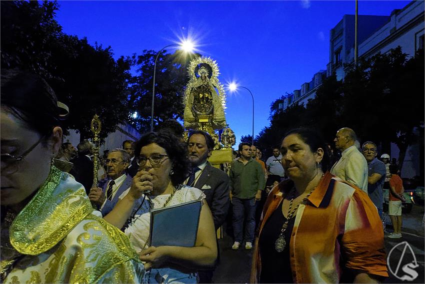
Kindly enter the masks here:
[[60, 48], [62, 27], [54, 20], [56, 2], [1, 1], [1, 68], [22, 68], [50, 78], [51, 50]]

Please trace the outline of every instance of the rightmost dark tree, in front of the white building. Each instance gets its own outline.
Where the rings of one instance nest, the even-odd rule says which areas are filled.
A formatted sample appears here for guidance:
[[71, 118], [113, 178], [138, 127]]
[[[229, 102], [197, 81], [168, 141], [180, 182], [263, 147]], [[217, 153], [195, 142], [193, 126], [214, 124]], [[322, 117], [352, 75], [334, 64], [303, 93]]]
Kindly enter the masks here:
[[403, 164], [407, 147], [423, 127], [423, 52], [407, 60], [401, 48], [362, 60], [343, 84], [343, 117], [363, 141], [394, 142]]

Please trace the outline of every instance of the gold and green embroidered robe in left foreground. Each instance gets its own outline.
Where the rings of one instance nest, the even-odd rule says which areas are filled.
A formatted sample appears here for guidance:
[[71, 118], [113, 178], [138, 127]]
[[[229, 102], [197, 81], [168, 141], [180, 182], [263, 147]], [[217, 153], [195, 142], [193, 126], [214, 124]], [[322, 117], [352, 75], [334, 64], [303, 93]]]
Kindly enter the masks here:
[[[52, 166], [10, 225], [9, 244], [23, 256], [3, 282], [139, 282], [144, 268], [137, 254], [124, 233], [99, 213], [81, 184]], [[6, 254], [1, 251], [2, 268], [10, 259]]]

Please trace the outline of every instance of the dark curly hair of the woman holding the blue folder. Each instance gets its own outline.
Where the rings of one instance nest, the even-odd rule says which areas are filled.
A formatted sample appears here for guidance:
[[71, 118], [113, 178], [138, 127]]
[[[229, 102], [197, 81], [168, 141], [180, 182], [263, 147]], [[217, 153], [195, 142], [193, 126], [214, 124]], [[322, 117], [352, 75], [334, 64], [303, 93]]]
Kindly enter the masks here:
[[171, 182], [174, 186], [182, 183], [189, 173], [189, 159], [187, 158], [187, 145], [166, 129], [159, 130], [158, 132], [149, 132], [143, 135], [140, 140], [135, 143], [134, 153], [138, 157], [142, 147], [151, 143], [158, 144], [165, 149], [168, 158], [172, 163], [173, 174], [171, 175]]

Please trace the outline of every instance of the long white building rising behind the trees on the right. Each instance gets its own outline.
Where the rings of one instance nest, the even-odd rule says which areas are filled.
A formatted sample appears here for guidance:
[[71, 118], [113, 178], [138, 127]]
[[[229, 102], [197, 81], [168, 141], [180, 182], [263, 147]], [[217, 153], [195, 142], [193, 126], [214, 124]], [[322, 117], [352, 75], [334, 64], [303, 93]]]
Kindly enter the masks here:
[[[389, 16], [358, 16], [358, 56], [371, 57], [377, 53], [386, 53], [390, 49], [401, 47], [403, 53], [414, 56], [424, 48], [424, 1], [412, 1], [403, 9], [391, 12]], [[326, 72], [319, 71], [309, 83], [303, 83], [300, 90], [295, 90], [284, 98], [279, 108], [284, 110], [291, 104], [308, 102], [314, 98], [321, 81], [315, 79], [335, 73], [338, 80], [343, 80], [346, 69], [344, 64], [354, 63], [354, 15], [344, 15], [336, 26], [330, 30], [329, 63]], [[318, 77], [317, 77], [318, 76]], [[314, 81], [314, 83], [313, 83]], [[315, 84], [316, 83], [316, 84]], [[423, 137], [419, 139], [423, 145]], [[423, 148], [423, 146], [422, 146]], [[413, 177], [420, 173], [420, 143], [410, 146], [406, 151], [402, 167], [402, 177]], [[399, 149], [391, 143], [391, 158], [398, 157]], [[422, 169], [423, 170], [423, 169]]]

